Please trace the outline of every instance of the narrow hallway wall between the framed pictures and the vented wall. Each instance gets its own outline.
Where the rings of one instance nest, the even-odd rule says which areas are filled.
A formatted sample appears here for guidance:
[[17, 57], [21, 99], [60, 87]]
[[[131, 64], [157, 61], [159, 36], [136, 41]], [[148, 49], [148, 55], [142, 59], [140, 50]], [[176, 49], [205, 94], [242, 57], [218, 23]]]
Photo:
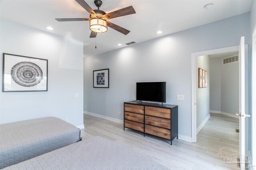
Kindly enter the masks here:
[[221, 111], [222, 58], [210, 59], [210, 110]]

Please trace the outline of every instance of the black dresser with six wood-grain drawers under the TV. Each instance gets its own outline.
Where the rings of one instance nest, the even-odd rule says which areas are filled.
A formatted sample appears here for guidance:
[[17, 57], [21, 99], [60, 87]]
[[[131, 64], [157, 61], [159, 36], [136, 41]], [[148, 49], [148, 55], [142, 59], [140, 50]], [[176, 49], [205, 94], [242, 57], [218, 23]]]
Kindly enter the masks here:
[[130, 128], [171, 141], [178, 139], [178, 106], [124, 102], [124, 130]]

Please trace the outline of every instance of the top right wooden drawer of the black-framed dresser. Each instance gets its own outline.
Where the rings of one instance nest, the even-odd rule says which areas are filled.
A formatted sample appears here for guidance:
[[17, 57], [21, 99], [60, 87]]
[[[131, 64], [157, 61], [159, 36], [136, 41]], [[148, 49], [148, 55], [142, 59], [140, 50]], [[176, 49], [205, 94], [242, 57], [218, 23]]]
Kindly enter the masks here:
[[164, 109], [160, 107], [145, 107], [145, 114], [157, 117], [171, 119], [171, 109]]

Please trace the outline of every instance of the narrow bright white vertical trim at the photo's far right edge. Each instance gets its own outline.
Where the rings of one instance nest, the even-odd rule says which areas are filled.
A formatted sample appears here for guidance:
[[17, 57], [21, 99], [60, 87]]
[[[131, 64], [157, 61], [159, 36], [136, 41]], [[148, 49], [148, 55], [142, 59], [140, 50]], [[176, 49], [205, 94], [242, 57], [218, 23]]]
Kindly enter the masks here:
[[252, 32], [252, 165], [256, 166], [256, 24]]

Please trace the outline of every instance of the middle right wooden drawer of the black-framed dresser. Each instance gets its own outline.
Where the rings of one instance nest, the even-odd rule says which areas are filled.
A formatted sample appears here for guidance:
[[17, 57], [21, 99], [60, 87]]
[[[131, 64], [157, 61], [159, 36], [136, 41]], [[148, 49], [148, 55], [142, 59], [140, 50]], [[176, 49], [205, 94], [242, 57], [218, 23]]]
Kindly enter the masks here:
[[160, 117], [152, 117], [145, 115], [145, 123], [148, 125], [154, 125], [157, 127], [171, 128], [171, 119], [164, 119]]

